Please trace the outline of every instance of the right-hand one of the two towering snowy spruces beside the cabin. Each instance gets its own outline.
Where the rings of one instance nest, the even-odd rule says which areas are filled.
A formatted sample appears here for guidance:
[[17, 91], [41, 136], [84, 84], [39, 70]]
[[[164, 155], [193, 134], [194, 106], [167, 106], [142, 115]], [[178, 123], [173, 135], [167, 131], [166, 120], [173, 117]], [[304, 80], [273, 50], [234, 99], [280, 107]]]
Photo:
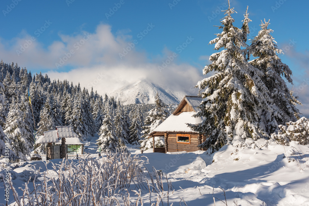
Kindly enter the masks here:
[[263, 123], [267, 131], [273, 133], [277, 130], [278, 124], [296, 121], [299, 118], [296, 105], [301, 105], [301, 103], [293, 96], [282, 78], [285, 77], [289, 83], [293, 84], [292, 71], [277, 56], [277, 53], [282, 53], [282, 50], [277, 48], [277, 42], [271, 36], [273, 30], [267, 28], [268, 25], [269, 20], [266, 22], [264, 19], [264, 23], [260, 25], [261, 30], [252, 40], [248, 50], [253, 57], [258, 57], [249, 63], [263, 72], [261, 79], [269, 90], [268, 103], [271, 110], [264, 110], [261, 115], [265, 117]]

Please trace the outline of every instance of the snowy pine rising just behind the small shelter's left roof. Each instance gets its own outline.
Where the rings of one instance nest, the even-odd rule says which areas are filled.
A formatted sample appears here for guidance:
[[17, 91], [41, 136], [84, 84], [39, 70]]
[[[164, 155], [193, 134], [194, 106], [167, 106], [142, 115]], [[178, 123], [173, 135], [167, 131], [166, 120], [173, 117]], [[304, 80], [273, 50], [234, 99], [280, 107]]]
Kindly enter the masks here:
[[52, 107], [50, 106], [50, 97], [47, 100], [40, 112], [40, 122], [38, 123], [36, 136], [44, 135], [43, 132], [56, 129], [55, 119], [53, 117]]

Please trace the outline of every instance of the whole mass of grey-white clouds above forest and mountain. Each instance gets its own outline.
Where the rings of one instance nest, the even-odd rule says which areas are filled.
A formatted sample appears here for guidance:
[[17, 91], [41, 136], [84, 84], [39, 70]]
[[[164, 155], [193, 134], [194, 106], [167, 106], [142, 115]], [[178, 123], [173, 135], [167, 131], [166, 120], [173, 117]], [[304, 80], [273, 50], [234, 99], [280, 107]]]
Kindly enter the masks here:
[[[48, 28], [45, 32], [48, 32]], [[40, 38], [35, 37], [35, 40], [31, 41], [33, 37], [22, 31], [22, 37], [12, 39], [11, 46], [0, 39], [0, 55], [4, 61], [17, 62], [20, 66], [26, 66], [28, 70], [49, 69], [47, 74], [51, 79], [67, 79], [74, 84], [80, 82], [81, 86], [89, 90], [93, 86], [100, 94], [109, 93], [142, 79], [148, 79], [172, 90], [196, 93], [193, 86], [202, 78], [198, 69], [187, 64], [179, 65], [175, 58], [160, 72], [158, 66], [166, 60], [169, 51], [163, 48], [162, 55], [152, 59], [153, 63], [148, 63], [150, 61], [145, 53], [135, 51], [135, 47], [128, 48], [133, 41], [128, 32], [130, 31], [121, 30], [114, 35], [110, 25], [99, 24], [93, 33], [59, 33], [60, 40], [46, 46], [39, 42]], [[28, 48], [18, 55], [16, 50], [20, 51], [21, 45]], [[131, 51], [120, 58], [119, 53], [123, 53], [126, 48]], [[59, 67], [61, 64], [63, 66]], [[64, 66], [75, 69], [63, 71]]]

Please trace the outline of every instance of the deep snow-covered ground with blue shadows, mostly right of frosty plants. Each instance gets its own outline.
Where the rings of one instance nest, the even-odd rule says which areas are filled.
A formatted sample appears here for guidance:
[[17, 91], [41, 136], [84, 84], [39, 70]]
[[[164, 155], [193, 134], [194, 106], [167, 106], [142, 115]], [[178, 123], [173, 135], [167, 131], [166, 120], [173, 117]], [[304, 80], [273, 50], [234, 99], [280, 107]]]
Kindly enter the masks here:
[[[97, 156], [95, 140], [92, 137], [85, 145], [85, 152], [91, 156]], [[148, 158], [149, 170], [154, 166], [167, 174], [175, 189], [169, 204], [178, 205], [182, 197], [187, 205], [214, 205], [215, 197], [215, 205], [226, 205], [224, 190], [229, 206], [309, 205], [309, 146], [295, 142], [283, 146], [265, 140], [252, 143], [243, 148], [225, 145], [211, 155], [204, 151], [152, 153], [152, 149], [140, 154], [135, 145], [128, 145], [128, 149], [132, 156]], [[37, 172], [31, 165], [43, 168], [41, 173], [46, 171], [42, 161], [28, 161], [27, 165], [11, 170], [17, 177], [13, 180], [15, 188]], [[1, 186], [0, 196], [4, 197], [3, 183]], [[148, 205], [145, 201], [144, 205]], [[5, 204], [4, 198], [0, 202]]]

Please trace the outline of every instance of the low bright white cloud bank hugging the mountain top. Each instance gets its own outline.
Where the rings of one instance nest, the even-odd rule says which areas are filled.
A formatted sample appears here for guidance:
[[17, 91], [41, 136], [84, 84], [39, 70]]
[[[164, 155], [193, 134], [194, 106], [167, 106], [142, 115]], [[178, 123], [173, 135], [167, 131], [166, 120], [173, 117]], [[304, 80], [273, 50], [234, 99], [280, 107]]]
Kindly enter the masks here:
[[175, 91], [186, 91], [196, 94], [193, 88], [201, 79], [198, 70], [190, 65], [170, 65], [161, 72], [157, 64], [140, 64], [138, 66], [113, 65], [83, 67], [69, 72], [56, 70], [47, 73], [51, 79], [68, 79], [74, 84], [78, 82], [88, 90], [93, 87], [99, 94], [110, 93], [122, 86], [147, 79], [159, 85], [164, 85]]

